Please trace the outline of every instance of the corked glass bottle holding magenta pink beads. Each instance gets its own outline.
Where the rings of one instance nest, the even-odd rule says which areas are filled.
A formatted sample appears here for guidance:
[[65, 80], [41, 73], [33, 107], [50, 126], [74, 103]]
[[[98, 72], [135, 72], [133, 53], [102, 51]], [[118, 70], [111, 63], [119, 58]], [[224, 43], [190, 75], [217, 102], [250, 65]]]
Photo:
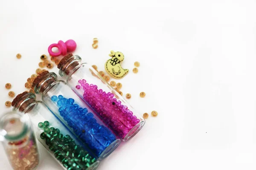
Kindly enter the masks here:
[[89, 64], [78, 55], [68, 54], [58, 64], [59, 74], [124, 141], [128, 141], [145, 124], [129, 103]]

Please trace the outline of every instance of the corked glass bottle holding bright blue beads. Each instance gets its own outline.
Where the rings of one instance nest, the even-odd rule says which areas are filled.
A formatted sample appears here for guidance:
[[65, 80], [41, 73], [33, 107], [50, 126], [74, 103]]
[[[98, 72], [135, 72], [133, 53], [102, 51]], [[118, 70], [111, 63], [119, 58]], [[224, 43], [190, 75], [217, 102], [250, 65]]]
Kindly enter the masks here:
[[97, 114], [77, 96], [66, 82], [57, 80], [53, 72], [43, 72], [34, 80], [35, 93], [88, 148], [104, 159], [121, 140], [105, 125]]

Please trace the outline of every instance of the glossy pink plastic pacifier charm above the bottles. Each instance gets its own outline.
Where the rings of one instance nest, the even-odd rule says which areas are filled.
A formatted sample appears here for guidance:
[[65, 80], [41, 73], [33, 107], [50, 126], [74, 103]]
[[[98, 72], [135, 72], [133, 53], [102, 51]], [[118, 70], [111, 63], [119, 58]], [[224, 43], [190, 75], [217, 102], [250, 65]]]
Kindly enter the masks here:
[[[52, 51], [52, 48], [58, 48], [58, 52], [55, 53]], [[76, 42], [74, 40], [67, 40], [65, 43], [61, 40], [58, 41], [58, 44], [52, 44], [48, 47], [48, 52], [52, 57], [58, 57], [60, 55], [66, 55], [67, 52], [72, 52], [76, 50]]]

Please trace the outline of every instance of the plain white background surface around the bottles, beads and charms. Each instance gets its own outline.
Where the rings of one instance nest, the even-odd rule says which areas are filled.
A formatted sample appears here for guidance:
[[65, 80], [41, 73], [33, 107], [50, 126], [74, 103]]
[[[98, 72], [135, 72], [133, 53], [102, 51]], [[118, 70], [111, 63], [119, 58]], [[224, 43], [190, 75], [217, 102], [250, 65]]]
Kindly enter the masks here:
[[[99, 71], [111, 50], [122, 51], [130, 69], [123, 94], [141, 115], [159, 114], [98, 170], [254, 170], [255, 9], [255, 0], [0, 0], [1, 113], [12, 101], [5, 84], [25, 91], [48, 46], [74, 39], [73, 54]], [[9, 170], [0, 148], [1, 170]], [[40, 151], [38, 170], [60, 169]]]

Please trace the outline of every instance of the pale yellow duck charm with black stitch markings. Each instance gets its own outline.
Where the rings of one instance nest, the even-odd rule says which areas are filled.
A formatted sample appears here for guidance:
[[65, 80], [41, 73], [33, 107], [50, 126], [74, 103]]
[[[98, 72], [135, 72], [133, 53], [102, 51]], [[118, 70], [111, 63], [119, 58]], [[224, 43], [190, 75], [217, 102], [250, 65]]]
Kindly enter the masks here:
[[120, 65], [120, 62], [125, 59], [124, 54], [121, 52], [110, 51], [109, 54], [111, 59], [109, 59], [105, 64], [105, 70], [111, 75], [111, 77], [116, 79], [121, 79], [128, 73], [128, 69], [123, 69]]

